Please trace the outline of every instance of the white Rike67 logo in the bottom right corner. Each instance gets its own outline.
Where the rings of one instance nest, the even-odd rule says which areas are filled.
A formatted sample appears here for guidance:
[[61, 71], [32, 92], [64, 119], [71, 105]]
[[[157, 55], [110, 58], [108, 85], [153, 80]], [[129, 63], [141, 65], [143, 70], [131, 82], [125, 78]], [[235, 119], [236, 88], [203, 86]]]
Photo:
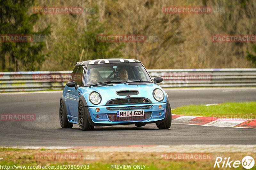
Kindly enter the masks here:
[[[223, 162], [222, 162], [223, 161]], [[251, 157], [251, 156], [245, 156], [243, 159], [242, 159], [242, 162], [240, 160], [230, 160], [230, 157], [228, 157], [228, 160], [227, 158], [225, 157], [224, 159], [222, 159], [221, 157], [217, 157], [216, 160], [215, 160], [215, 163], [214, 163], [214, 168], [217, 167], [219, 168], [220, 166], [222, 168], [227, 168], [227, 167], [230, 167], [233, 166], [234, 168], [237, 168], [239, 167], [240, 165], [242, 164], [242, 166], [245, 168], [245, 169], [251, 169], [253, 166], [254, 166], [254, 159]]]

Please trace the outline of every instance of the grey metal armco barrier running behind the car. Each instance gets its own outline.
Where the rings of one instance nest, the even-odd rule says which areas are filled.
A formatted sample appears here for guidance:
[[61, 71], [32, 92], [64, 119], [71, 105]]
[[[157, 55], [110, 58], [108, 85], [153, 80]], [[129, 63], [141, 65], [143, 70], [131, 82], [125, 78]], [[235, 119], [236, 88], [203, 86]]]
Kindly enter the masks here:
[[[256, 87], [255, 68], [148, 69], [161, 87]], [[61, 90], [72, 71], [0, 72], [1, 91]]]

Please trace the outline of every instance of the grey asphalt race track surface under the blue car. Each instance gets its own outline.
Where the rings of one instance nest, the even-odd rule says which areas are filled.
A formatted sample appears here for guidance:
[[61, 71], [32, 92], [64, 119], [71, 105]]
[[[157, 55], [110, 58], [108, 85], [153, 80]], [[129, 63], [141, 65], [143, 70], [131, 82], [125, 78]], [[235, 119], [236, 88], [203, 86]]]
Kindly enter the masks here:
[[[189, 104], [256, 101], [256, 88], [166, 89], [171, 107]], [[155, 124], [62, 129], [59, 101], [62, 92], [0, 94], [0, 114], [31, 113], [35, 121], [0, 121], [0, 146], [109, 146], [178, 144], [255, 144], [256, 129]]]

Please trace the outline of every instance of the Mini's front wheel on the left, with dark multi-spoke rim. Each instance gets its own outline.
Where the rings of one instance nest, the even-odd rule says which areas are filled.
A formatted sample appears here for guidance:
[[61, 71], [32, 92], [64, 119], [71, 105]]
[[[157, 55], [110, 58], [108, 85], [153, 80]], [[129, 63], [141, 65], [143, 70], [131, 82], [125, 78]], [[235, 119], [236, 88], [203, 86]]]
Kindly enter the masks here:
[[92, 131], [94, 129], [94, 126], [92, 126], [88, 121], [87, 114], [84, 111], [84, 104], [82, 101], [80, 101], [78, 104], [77, 114], [79, 128], [82, 131]]

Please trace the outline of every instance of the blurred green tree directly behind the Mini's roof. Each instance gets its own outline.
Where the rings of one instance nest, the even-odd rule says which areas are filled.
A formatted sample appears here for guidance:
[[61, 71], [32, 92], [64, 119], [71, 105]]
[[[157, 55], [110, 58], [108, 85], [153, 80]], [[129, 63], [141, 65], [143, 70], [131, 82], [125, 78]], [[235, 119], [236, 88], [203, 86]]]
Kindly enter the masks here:
[[[68, 17], [65, 20], [68, 25], [65, 30], [59, 32], [59, 40], [55, 40], [55, 53], [51, 56], [54, 58], [55, 69], [72, 70], [75, 61], [100, 59], [102, 58], [120, 58], [120, 50], [124, 44], [113, 47], [111, 42], [97, 42], [97, 35], [111, 34], [109, 27], [105, 23], [100, 23], [98, 17], [90, 15], [86, 18], [86, 27], [78, 32], [78, 23], [74, 18]], [[60, 67], [61, 66], [61, 67]]]

